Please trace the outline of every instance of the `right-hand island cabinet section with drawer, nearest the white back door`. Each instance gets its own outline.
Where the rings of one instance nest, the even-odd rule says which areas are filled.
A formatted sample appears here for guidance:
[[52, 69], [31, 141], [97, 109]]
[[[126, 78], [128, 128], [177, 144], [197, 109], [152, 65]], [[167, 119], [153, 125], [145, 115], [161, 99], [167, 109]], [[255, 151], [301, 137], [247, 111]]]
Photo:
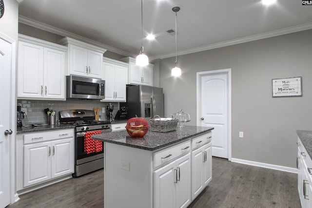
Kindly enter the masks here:
[[[202, 137], [211, 138], [211, 134], [206, 134]], [[197, 144], [201, 144], [203, 142], [202, 137], [198, 137], [199, 141], [198, 138], [196, 138]], [[211, 141], [209, 143], [206, 141], [206, 144], [203, 142], [203, 144], [197, 147], [197, 149], [192, 149], [192, 200], [198, 196], [198, 194], [208, 185], [211, 180], [212, 147]]]

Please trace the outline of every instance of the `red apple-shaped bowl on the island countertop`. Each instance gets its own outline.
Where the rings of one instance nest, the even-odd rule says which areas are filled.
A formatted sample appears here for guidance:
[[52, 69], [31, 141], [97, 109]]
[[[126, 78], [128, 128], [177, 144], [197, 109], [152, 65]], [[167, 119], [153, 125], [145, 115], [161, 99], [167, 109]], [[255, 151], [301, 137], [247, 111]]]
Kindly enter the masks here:
[[148, 128], [147, 120], [141, 117], [130, 118], [126, 125], [126, 130], [131, 138], [143, 138]]

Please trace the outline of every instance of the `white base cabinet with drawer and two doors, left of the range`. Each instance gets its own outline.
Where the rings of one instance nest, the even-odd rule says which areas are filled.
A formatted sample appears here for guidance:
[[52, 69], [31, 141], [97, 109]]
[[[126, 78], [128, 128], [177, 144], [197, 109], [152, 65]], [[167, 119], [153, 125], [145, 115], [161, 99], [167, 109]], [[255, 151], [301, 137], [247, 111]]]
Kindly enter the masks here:
[[17, 135], [17, 190], [74, 172], [74, 130]]

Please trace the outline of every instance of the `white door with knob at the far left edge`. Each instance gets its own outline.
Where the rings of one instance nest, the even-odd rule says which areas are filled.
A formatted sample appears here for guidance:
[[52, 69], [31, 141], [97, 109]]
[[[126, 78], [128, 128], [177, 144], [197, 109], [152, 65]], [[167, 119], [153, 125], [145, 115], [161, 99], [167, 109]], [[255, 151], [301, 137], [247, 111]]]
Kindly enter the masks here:
[[[14, 49], [15, 50], [15, 49]], [[10, 130], [12, 46], [0, 38], [0, 208], [10, 203]]]

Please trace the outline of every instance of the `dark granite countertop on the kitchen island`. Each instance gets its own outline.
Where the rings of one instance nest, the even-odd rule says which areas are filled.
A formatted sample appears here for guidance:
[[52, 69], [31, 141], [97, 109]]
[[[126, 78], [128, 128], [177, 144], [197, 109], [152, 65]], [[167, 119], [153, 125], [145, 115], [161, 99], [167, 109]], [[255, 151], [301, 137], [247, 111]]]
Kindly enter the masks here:
[[91, 138], [128, 147], [155, 151], [185, 139], [210, 132], [212, 127], [184, 126], [172, 132], [152, 132], [150, 129], [144, 138], [132, 139], [126, 130], [92, 135]]

